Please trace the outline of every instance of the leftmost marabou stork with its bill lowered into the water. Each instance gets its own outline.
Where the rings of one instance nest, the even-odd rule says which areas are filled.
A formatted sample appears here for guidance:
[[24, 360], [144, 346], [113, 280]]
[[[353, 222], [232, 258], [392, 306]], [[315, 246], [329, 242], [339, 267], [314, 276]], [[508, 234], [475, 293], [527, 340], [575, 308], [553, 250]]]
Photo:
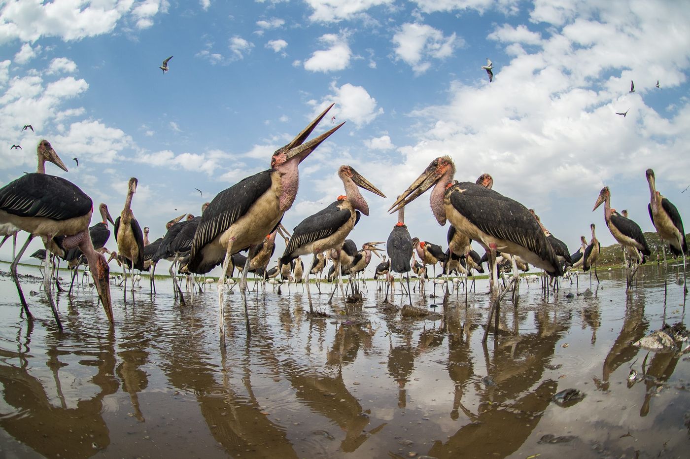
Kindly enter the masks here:
[[[26, 243], [10, 265], [14, 284], [17, 285], [19, 300], [30, 318], [26, 300], [17, 278], [17, 264], [21, 255], [36, 236], [41, 236], [48, 248], [53, 237], [64, 236], [62, 246], [70, 249], [79, 246], [89, 262], [89, 269], [98, 290], [103, 309], [112, 324], [110, 302], [110, 272], [105, 257], [95, 251], [88, 233], [93, 203], [81, 189], [62, 177], [41, 173], [30, 173], [19, 177], [0, 189], [0, 224], [12, 224], [29, 233]], [[46, 291], [52, 313], [59, 329], [62, 329], [55, 302], [50, 291], [48, 269], [43, 275], [43, 289]]]

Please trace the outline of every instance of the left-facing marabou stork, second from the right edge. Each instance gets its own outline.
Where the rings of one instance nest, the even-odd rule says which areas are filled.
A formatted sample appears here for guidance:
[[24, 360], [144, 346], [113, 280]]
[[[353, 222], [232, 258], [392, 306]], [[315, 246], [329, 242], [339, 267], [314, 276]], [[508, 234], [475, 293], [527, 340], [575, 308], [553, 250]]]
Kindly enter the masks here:
[[[627, 288], [629, 289], [632, 285], [635, 272], [640, 264], [644, 263], [644, 257], [649, 257], [649, 255], [651, 255], [651, 251], [649, 250], [649, 246], [647, 246], [647, 240], [644, 239], [642, 229], [640, 229], [637, 223], [621, 215], [611, 213], [611, 191], [609, 191], [608, 186], [604, 186], [602, 191], [600, 191], [592, 212], [602, 203], [604, 203], [604, 219], [609, 227], [609, 231], [611, 231], [611, 235], [618, 241], [618, 244], [626, 246], [626, 248], [630, 247], [633, 250], [634, 256], [631, 262], [635, 262], [637, 266], [635, 266], [628, 276]], [[630, 254], [630, 251], [628, 253]]]

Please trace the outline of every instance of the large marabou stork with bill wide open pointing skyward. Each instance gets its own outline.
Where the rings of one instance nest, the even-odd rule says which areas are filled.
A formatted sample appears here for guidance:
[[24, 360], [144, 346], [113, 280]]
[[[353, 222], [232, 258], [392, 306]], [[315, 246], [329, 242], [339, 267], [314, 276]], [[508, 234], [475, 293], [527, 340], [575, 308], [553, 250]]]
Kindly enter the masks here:
[[[223, 263], [218, 282], [218, 304], [221, 340], [224, 343], [224, 291], [225, 277], [233, 253], [262, 242], [267, 234], [281, 221], [284, 213], [293, 205], [299, 183], [299, 163], [319, 144], [335, 133], [344, 123], [338, 124], [322, 135], [304, 142], [323, 119], [333, 104], [311, 121], [290, 143], [273, 153], [268, 170], [257, 173], [221, 191], [213, 198], [194, 237], [190, 261], [192, 273], [208, 273]], [[247, 258], [247, 263], [251, 260]], [[244, 303], [247, 333], [250, 333], [246, 301], [246, 275], [242, 273], [242, 302]]]

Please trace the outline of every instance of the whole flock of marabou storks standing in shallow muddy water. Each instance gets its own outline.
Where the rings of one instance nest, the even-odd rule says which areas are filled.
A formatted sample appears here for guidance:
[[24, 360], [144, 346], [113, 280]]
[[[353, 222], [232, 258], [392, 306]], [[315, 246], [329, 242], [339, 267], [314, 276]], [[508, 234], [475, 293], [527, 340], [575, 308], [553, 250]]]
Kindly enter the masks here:
[[[201, 215], [186, 217], [187, 214], [183, 214], [170, 220], [166, 224], [166, 235], [150, 244], [148, 228], [141, 230], [131, 210], [132, 197], [137, 190], [136, 178], [132, 177], [129, 181], [125, 205], [119, 217], [113, 221], [107, 206], [101, 204], [101, 222], [89, 227], [93, 211], [92, 200], [67, 179], [46, 174], [46, 162], [52, 162], [63, 170], [67, 168], [50, 143], [42, 140], [37, 147], [37, 172], [25, 174], [0, 189], [0, 232], [5, 236], [3, 242], [11, 235], [16, 238], [20, 231], [28, 233], [26, 242], [14, 255], [10, 265], [19, 300], [27, 317], [32, 316], [21, 290], [17, 264], [32, 238], [37, 236], [42, 238], [46, 253], [51, 256], [68, 260], [75, 265], [80, 262], [88, 264], [99, 301], [111, 323], [110, 260], [117, 260], [124, 266], [125, 279], [126, 271], [132, 273], [132, 289], [135, 280], [133, 271], [150, 270], [152, 293], [155, 293], [153, 275], [156, 263], [162, 259], [170, 260], [175, 293], [183, 303], [184, 295], [181, 295], [180, 286], [175, 280], [176, 271], [206, 274], [221, 265], [216, 284], [221, 340], [224, 340], [224, 298], [228, 289], [226, 279], [228, 276], [232, 277], [235, 266], [242, 271], [239, 291], [242, 293], [247, 333], [250, 333], [246, 300], [247, 274], [258, 273], [267, 280], [279, 274], [284, 278], [290, 276], [290, 273], [299, 277], [293, 269], [298, 265], [303, 266], [299, 258], [301, 256], [313, 256], [311, 264], [308, 264], [310, 268], [302, 268], [310, 313], [324, 314], [313, 306], [309, 277], [312, 273], [320, 273], [328, 259], [333, 261], [331, 270], [337, 281], [336, 289], [340, 290], [344, 302], [347, 302], [342, 275], [362, 272], [371, 261], [371, 254], [382, 250], [378, 246], [383, 243], [367, 242], [361, 250], [357, 250], [354, 243], [348, 240], [348, 235], [359, 218], [369, 214], [368, 204], [359, 188], [385, 198], [384, 193], [353, 167], [340, 166], [338, 176], [342, 180], [344, 194], [322, 211], [306, 217], [295, 226], [292, 235], [281, 225], [284, 213], [292, 206], [297, 194], [299, 164], [344, 124], [338, 124], [307, 140], [332, 106], [328, 106], [313, 119], [292, 141], [276, 150], [271, 157], [270, 168], [246, 177], [218, 193], [213, 200], [204, 204]], [[478, 242], [486, 251], [484, 257], [491, 273], [493, 300], [487, 331], [492, 317], [497, 326], [497, 308], [505, 292], [510, 291], [511, 287], [513, 292], [517, 292], [520, 266], [524, 268], [531, 264], [551, 277], [564, 275], [571, 266], [581, 265], [585, 270], [596, 268], [600, 244], [595, 236], [594, 224], [591, 224], [589, 244], [583, 236], [580, 250], [569, 255], [566, 244], [544, 228], [533, 210], [492, 189], [493, 179], [490, 175], [484, 174], [476, 182], [457, 182], [454, 175], [455, 165], [451, 157], [437, 157], [388, 209], [390, 213], [397, 212], [397, 223], [386, 241], [388, 260], [377, 268], [377, 275], [385, 275], [386, 279], [392, 280], [394, 273], [398, 273], [402, 281], [402, 275], [406, 274], [406, 291], [411, 304], [410, 271], [424, 278], [426, 265], [434, 266], [435, 274], [437, 262], [444, 264], [442, 275], [453, 272], [467, 275], [472, 268], [481, 269], [482, 260], [472, 250], [472, 241]], [[665, 244], [669, 244], [671, 254], [682, 256], [684, 266], [687, 243], [678, 210], [656, 191], [653, 170], [648, 169], [646, 177], [651, 196], [649, 215], [664, 242], [664, 261]], [[405, 206], [429, 188], [433, 188], [430, 202], [435, 219], [441, 225], [450, 222], [446, 251], [430, 242], [420, 241], [416, 237], [413, 239], [404, 222]], [[611, 234], [624, 246], [624, 253], [627, 254], [627, 286], [630, 287], [638, 266], [644, 263], [645, 257], [651, 255], [651, 251], [640, 226], [627, 218], [624, 212], [618, 213], [611, 208], [611, 191], [608, 187], [602, 188], [593, 211], [601, 204], [604, 204], [604, 219]], [[114, 226], [117, 253], [110, 253], [105, 248], [110, 235], [108, 222]], [[277, 234], [285, 238], [286, 248], [279, 257], [278, 266], [268, 269]], [[246, 256], [242, 255], [244, 251]], [[415, 251], [421, 263], [416, 262], [413, 255]], [[110, 260], [106, 260], [103, 253], [110, 253]], [[512, 267], [511, 282], [503, 288], [498, 282], [497, 264]], [[43, 287], [61, 329], [59, 314], [52, 298], [51, 278], [50, 270], [46, 268]], [[353, 284], [355, 289], [356, 282], [348, 284]], [[464, 284], [466, 291], [466, 278]], [[685, 286], [683, 288], [687, 292]], [[335, 293], [335, 289], [333, 292]], [[387, 298], [386, 294], [386, 301]], [[331, 300], [328, 303], [331, 304]]]

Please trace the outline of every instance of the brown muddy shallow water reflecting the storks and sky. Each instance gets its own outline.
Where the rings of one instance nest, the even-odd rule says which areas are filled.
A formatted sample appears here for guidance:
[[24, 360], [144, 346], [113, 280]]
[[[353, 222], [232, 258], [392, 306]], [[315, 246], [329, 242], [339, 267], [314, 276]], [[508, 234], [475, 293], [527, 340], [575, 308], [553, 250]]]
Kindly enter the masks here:
[[[112, 329], [93, 289], [59, 293], [60, 333], [30, 293], [39, 279], [22, 279], [28, 322], [3, 273], [0, 456], [687, 458], [690, 354], [633, 346], [684, 320], [676, 268], [665, 302], [663, 273], [640, 268], [629, 294], [620, 270], [600, 273], [593, 295], [578, 295], [589, 275], [546, 299], [523, 282], [486, 345], [486, 281], [467, 310], [453, 294], [437, 320], [384, 313], [373, 282], [348, 311], [326, 306], [324, 284], [326, 319], [308, 317], [294, 286], [289, 297], [268, 286], [265, 300], [249, 297], [250, 339], [239, 293], [227, 296], [225, 350], [215, 286], [186, 293], [186, 307], [169, 280], [155, 297], [143, 281], [135, 302], [112, 286]], [[561, 407], [551, 398], [564, 389], [586, 396]]]

